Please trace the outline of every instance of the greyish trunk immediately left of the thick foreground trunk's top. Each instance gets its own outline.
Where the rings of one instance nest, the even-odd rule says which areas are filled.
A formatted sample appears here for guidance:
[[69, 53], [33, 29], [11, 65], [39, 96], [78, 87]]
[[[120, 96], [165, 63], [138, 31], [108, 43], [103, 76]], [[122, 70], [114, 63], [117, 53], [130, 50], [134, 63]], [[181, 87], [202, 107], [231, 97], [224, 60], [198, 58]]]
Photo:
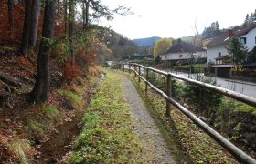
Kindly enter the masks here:
[[31, 15], [31, 25], [29, 34], [29, 48], [33, 49], [37, 42], [37, 27], [40, 16], [41, 0], [33, 1], [32, 15]]

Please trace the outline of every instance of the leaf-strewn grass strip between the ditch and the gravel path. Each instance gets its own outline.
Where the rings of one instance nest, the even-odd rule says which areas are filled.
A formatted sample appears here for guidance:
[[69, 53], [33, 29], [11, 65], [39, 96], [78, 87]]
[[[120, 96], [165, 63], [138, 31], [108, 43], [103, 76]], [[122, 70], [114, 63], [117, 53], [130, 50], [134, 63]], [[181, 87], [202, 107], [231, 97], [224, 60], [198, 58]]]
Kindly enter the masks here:
[[69, 163], [132, 163], [140, 155], [120, 78], [106, 74], [83, 118]]

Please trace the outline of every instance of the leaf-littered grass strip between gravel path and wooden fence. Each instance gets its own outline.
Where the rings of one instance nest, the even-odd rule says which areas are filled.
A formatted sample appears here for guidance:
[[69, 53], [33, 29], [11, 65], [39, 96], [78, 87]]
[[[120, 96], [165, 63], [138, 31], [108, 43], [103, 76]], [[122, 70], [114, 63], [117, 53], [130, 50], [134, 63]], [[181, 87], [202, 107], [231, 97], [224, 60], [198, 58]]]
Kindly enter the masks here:
[[144, 83], [137, 84], [138, 77], [133, 78], [146, 106], [158, 122], [165, 127], [165, 133], [172, 138], [177, 138], [187, 158], [192, 163], [237, 163], [231, 155], [219, 144], [210, 138], [178, 109], [172, 108], [171, 118], [165, 117], [165, 99], [155, 94], [149, 89], [148, 94], [144, 94]]

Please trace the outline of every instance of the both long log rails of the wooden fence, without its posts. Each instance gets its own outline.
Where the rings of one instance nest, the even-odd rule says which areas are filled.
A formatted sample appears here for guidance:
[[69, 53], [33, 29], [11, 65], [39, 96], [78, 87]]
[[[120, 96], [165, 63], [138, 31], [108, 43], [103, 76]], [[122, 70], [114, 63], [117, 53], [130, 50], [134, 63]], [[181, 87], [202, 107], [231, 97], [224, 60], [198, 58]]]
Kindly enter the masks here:
[[[249, 155], [247, 155], [241, 149], [237, 148], [235, 145], [233, 145], [231, 142], [229, 142], [228, 139], [222, 137], [217, 131], [215, 131], [213, 128], [209, 127], [204, 121], [202, 121], [200, 118], [197, 118], [196, 115], [194, 115], [192, 112], [187, 110], [187, 108], [184, 108], [181, 104], [176, 102], [172, 97], [170, 97], [170, 95], [168, 93], [167, 94], [169, 96], [166, 95], [165, 92], [163, 92], [162, 90], [160, 90], [157, 87], [155, 87], [149, 81], [147, 81], [147, 79], [142, 77], [140, 75], [140, 73], [136, 72], [136, 70], [131, 69], [130, 65], [134, 65], [134, 66], [138, 66], [138, 67], [143, 67], [146, 70], [152, 70], [152, 71], [155, 71], [155, 72], [157, 72], [159, 74], [162, 74], [162, 75], [165, 75], [165, 76], [176, 77], [178, 79], [187, 81], [188, 83], [195, 84], [197, 86], [207, 87], [209, 89], [212, 89], [212, 90], [215, 90], [215, 91], [219, 92], [220, 94], [223, 94], [223, 95], [226, 95], [228, 97], [232, 97], [234, 99], [240, 100], [240, 101], [242, 101], [242, 102], [244, 102], [246, 104], [252, 105], [254, 107], [256, 105], [256, 100], [255, 99], [253, 99], [253, 98], [251, 99], [251, 97], [247, 97], [247, 96], [245, 96], [243, 94], [239, 94], [239, 93], [231, 91], [229, 89], [224, 89], [222, 87], [216, 87], [216, 86], [209, 85], [209, 84], [206, 84], [206, 83], [202, 83], [202, 82], [199, 82], [199, 81], [196, 81], [196, 80], [193, 80], [193, 79], [190, 79], [190, 78], [186, 78], [186, 77], [179, 77], [179, 76], [176, 76], [174, 74], [166, 73], [164, 71], [160, 71], [160, 70], [157, 70], [157, 69], [152, 68], [152, 67], [144, 67], [144, 66], [138, 65], [138, 64], [129, 64], [129, 71], [132, 70], [135, 73], [135, 75], [139, 77], [139, 79], [142, 79], [144, 81], [146, 86], [148, 85], [149, 87], [151, 87], [161, 97], [164, 97], [167, 102], [171, 103], [176, 108], [178, 108], [184, 115], [187, 116], [187, 118], [190, 118], [195, 124], [197, 124], [197, 126], [199, 128], [203, 129], [206, 133], [208, 133], [208, 135], [211, 138], [216, 140], [224, 149], [227, 149], [229, 151], [229, 153], [231, 153], [236, 159], [238, 159], [239, 161], [241, 161], [243, 163], [249, 163], [249, 164], [255, 164], [256, 163], [255, 159], [252, 159]], [[124, 65], [123, 65], [123, 70], [124, 70]], [[146, 72], [148, 73], [148, 71], [146, 71]], [[146, 75], [146, 77], [147, 76], [148, 75]], [[147, 87], [146, 87], [146, 89], [147, 89]], [[235, 96], [232, 96], [232, 94], [234, 94]], [[168, 110], [168, 108], [166, 110]]]

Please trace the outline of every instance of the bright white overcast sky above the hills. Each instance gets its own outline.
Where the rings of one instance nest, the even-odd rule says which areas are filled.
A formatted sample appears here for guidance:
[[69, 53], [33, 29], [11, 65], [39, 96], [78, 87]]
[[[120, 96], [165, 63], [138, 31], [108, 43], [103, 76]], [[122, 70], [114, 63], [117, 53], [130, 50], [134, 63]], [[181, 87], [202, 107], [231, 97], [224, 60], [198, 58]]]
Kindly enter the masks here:
[[256, 9], [256, 0], [102, 0], [104, 5], [130, 6], [134, 15], [105, 24], [128, 38], [192, 36], [218, 21], [220, 28], [240, 25]]

